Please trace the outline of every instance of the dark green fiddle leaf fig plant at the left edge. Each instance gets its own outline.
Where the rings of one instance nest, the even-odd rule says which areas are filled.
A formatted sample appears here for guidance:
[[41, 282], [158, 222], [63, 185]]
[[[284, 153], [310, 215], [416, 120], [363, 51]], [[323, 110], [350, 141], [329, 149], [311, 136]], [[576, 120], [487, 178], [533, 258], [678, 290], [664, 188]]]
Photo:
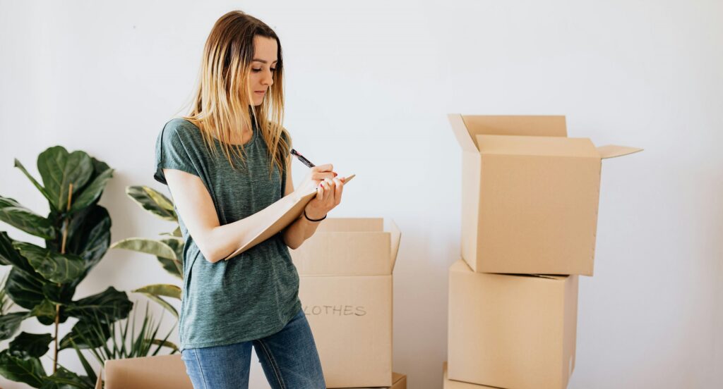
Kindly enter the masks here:
[[[12, 266], [2, 295], [23, 309], [0, 312], [0, 340], [13, 338], [20, 323], [30, 318], [53, 325], [54, 330], [15, 336], [7, 349], [0, 351], [0, 374], [33, 388], [93, 388], [90, 377], [59, 368], [58, 353], [72, 349], [76, 340], [81, 348], [98, 346], [83, 342], [88, 331], [98, 328], [97, 318], [103, 318], [100, 327], [107, 331], [102, 333], [110, 336], [111, 325], [127, 318], [133, 306], [127, 294], [114, 287], [74, 300], [78, 284], [103, 258], [111, 242], [111, 217], [98, 201], [114, 170], [85, 152], [68, 152], [61, 146], [40, 153], [37, 163], [42, 185], [17, 159], [14, 167], [48, 200], [47, 217], [0, 196], [0, 221], [45, 241], [41, 247], [13, 240], [0, 231], [0, 265]], [[77, 323], [60, 339], [59, 324], [69, 318], [76, 318]], [[48, 351], [53, 351], [52, 374], [40, 364], [40, 357]]]

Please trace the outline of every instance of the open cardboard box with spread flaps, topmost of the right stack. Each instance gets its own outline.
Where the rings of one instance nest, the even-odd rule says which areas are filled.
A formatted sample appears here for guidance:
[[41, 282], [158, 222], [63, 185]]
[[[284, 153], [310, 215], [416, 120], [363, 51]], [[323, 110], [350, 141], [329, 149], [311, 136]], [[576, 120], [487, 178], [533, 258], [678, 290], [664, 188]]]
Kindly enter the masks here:
[[462, 258], [477, 272], [592, 276], [601, 159], [564, 116], [448, 115], [462, 148]]

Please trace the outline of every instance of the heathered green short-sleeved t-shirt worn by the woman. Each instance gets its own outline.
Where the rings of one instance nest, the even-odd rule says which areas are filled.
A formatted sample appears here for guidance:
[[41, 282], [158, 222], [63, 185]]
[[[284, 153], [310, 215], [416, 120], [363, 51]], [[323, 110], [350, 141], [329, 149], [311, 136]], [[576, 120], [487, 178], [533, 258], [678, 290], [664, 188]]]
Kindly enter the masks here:
[[[174, 118], [158, 134], [153, 178], [168, 185], [163, 168], [197, 175], [213, 199], [221, 225], [249, 217], [283, 197], [286, 183], [286, 171], [277, 167], [269, 177], [268, 148], [258, 132], [254, 128], [252, 139], [244, 144], [245, 167], [234, 159], [234, 170], [220, 141], [213, 139], [218, 150], [214, 156], [197, 126]], [[210, 263], [180, 217], [179, 224], [185, 242], [181, 350], [269, 336], [299, 312], [299, 274], [281, 233], [228, 261]]]

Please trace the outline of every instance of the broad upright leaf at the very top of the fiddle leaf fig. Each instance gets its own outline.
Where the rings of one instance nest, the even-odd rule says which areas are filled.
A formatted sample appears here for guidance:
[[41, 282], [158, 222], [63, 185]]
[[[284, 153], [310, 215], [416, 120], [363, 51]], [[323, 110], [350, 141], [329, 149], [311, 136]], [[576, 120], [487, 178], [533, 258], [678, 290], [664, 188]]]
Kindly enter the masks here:
[[50, 147], [38, 156], [38, 172], [51, 204], [66, 211], [70, 184], [75, 197], [93, 175], [93, 160], [82, 151], [69, 153], [62, 146]]

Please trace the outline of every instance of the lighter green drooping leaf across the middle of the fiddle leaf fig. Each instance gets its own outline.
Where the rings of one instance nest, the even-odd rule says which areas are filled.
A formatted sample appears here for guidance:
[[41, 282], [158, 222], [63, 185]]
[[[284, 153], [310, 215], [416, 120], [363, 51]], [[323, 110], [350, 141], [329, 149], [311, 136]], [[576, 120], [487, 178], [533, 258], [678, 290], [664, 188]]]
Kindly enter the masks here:
[[64, 284], [77, 279], [85, 270], [85, 261], [77, 255], [57, 253], [27, 242], [16, 241], [12, 245], [48, 281]]

